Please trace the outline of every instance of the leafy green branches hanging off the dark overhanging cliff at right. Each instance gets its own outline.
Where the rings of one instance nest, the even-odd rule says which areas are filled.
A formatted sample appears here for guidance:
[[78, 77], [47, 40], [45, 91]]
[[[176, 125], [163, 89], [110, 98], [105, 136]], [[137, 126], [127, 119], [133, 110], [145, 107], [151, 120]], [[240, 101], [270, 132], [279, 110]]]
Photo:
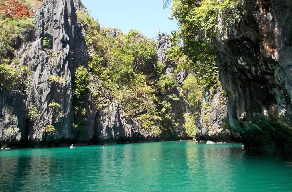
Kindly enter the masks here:
[[[165, 0], [164, 3], [167, 6], [170, 1]], [[181, 62], [181, 55], [171, 55], [170, 58], [178, 64], [178, 70], [196, 72], [197, 79], [203, 80], [208, 87], [218, 82], [218, 67], [215, 65], [217, 52], [208, 43], [218, 36], [221, 15], [224, 15], [223, 28], [239, 22], [243, 14], [237, 10], [239, 3], [239, 0], [172, 1], [171, 18], [175, 18], [180, 26], [173, 32], [172, 41], [175, 45], [183, 43], [173, 52], [182, 52], [192, 61], [184, 58]]]

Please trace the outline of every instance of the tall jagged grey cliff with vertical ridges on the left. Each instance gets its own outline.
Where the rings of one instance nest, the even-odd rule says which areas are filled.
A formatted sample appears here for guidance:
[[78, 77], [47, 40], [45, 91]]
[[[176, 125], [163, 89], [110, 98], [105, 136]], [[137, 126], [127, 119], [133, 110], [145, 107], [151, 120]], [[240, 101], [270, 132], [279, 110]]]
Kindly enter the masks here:
[[[85, 32], [81, 24], [77, 23], [75, 7], [70, 0], [46, 0], [35, 15], [34, 37], [27, 39], [20, 49], [20, 63], [26, 64], [32, 74], [28, 75], [24, 95], [14, 94], [8, 99], [11, 102], [1, 105], [5, 122], [7, 118], [18, 124], [19, 133], [16, 142], [28, 140], [32, 145], [47, 143], [52, 140], [70, 140], [74, 138], [71, 130], [73, 121], [72, 108], [72, 78], [75, 68], [79, 65], [87, 66], [87, 46], [84, 40]], [[44, 37], [51, 39], [51, 49], [43, 47]], [[27, 43], [31, 41], [32, 43]], [[55, 75], [62, 78], [60, 82], [49, 80]], [[1, 99], [7, 100], [1, 92]], [[23, 99], [23, 103], [20, 101]], [[57, 118], [57, 112], [48, 105], [57, 102], [60, 105], [62, 117]], [[27, 107], [35, 105], [42, 114], [27, 120]], [[8, 115], [7, 109], [15, 109], [13, 115]], [[57, 121], [58, 120], [58, 121]], [[8, 124], [1, 121], [1, 132], [7, 133]], [[26, 125], [26, 126], [25, 126]], [[44, 127], [53, 125], [58, 134], [48, 135]], [[26, 135], [27, 138], [24, 137]], [[13, 136], [14, 137], [14, 136]], [[0, 138], [5, 143], [7, 137]]]

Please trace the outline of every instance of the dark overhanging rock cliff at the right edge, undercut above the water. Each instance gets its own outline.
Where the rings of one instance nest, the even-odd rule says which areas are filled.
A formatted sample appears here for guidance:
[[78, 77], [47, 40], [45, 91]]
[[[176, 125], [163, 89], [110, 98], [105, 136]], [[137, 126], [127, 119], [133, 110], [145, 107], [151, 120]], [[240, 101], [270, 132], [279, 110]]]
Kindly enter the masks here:
[[246, 13], [239, 24], [220, 28], [212, 43], [229, 123], [246, 149], [291, 155], [292, 3], [248, 0], [241, 8]]

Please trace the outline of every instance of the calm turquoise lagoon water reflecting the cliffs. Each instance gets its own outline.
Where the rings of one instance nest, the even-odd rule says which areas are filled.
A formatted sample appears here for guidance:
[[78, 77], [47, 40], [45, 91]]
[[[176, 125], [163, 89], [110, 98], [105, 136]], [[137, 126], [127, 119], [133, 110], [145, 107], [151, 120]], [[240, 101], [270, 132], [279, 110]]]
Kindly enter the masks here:
[[0, 151], [0, 191], [291, 191], [292, 162], [194, 141]]

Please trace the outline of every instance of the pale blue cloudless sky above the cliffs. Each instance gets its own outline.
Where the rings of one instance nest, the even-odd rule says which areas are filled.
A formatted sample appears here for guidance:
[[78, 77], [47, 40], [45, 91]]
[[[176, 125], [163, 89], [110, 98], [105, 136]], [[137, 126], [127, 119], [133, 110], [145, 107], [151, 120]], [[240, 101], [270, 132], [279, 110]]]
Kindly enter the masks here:
[[82, 0], [82, 3], [102, 27], [116, 27], [124, 33], [136, 29], [152, 38], [159, 29], [170, 34], [178, 28], [175, 20], [168, 20], [171, 10], [162, 7], [162, 0]]

